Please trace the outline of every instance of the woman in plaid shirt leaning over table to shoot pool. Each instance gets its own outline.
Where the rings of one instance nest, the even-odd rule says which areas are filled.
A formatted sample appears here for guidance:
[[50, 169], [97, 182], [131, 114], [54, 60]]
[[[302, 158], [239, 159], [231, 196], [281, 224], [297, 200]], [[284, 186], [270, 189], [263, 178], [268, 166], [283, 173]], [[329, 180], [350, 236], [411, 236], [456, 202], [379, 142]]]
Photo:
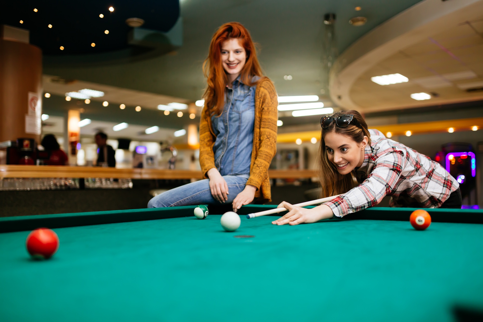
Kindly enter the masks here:
[[312, 209], [283, 202], [289, 212], [272, 221], [297, 225], [343, 217], [391, 196], [392, 207], [461, 208], [459, 185], [439, 163], [369, 130], [357, 111], [322, 117], [320, 173], [323, 197], [341, 194]]

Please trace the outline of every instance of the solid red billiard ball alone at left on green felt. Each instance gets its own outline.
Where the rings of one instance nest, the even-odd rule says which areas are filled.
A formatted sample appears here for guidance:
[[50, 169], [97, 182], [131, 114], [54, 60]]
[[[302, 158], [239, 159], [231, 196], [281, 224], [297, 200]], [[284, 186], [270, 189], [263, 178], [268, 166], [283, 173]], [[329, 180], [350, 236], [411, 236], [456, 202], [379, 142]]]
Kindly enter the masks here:
[[28, 234], [26, 246], [33, 258], [48, 259], [59, 248], [59, 238], [53, 230], [39, 228]]

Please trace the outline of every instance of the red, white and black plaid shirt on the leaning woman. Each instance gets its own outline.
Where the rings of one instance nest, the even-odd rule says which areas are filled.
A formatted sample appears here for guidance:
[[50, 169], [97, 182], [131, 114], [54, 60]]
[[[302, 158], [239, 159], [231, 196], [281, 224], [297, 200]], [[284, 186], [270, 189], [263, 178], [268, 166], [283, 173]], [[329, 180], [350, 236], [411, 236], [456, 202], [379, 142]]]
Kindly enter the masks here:
[[369, 130], [364, 162], [355, 169], [360, 183], [328, 205], [336, 217], [359, 211], [391, 196], [391, 207], [438, 208], [459, 184], [439, 163], [424, 154]]

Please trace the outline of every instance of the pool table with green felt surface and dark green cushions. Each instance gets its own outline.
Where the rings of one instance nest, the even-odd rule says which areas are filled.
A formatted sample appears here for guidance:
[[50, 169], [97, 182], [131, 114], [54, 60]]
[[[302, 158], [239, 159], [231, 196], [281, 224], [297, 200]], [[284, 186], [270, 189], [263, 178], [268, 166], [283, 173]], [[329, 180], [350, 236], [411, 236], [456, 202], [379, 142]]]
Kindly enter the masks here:
[[[272, 205], [247, 205], [241, 215]], [[483, 211], [370, 208], [344, 219], [225, 232], [223, 206], [0, 218], [0, 320], [472, 321], [483, 308]], [[28, 256], [31, 229], [57, 253]]]

